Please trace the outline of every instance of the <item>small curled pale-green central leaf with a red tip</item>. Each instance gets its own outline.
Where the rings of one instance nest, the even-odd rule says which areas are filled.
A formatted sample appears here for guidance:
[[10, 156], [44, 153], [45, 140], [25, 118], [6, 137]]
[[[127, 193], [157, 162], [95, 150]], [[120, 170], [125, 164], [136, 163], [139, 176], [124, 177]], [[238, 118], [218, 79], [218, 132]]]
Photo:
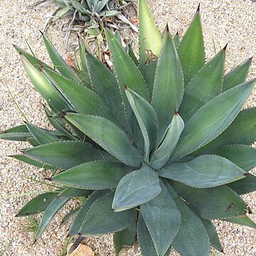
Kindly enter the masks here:
[[178, 113], [174, 114], [171, 124], [167, 127], [159, 146], [151, 153], [150, 166], [152, 166], [153, 169], [159, 170], [168, 162], [183, 129], [184, 123], [182, 118]]

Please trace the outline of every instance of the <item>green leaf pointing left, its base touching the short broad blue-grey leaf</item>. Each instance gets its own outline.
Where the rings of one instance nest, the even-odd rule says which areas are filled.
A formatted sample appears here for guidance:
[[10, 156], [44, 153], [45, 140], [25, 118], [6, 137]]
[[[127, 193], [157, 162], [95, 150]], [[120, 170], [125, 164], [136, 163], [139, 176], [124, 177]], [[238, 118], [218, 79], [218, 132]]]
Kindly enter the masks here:
[[116, 188], [120, 179], [133, 170], [121, 163], [90, 161], [55, 175], [53, 181], [75, 188]]

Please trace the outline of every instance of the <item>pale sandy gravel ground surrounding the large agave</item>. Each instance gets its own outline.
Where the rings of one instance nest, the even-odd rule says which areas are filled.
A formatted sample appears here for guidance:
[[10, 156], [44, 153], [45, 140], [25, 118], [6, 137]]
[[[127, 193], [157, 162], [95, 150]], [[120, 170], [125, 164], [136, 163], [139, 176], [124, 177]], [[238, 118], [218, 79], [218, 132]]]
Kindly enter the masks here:
[[[11, 99], [9, 90], [30, 122], [47, 127], [41, 107], [41, 97], [31, 89], [31, 82], [26, 77], [18, 54], [11, 45], [14, 43], [27, 49], [25, 40], [28, 40], [38, 58], [48, 60], [38, 30], [43, 27], [46, 15], [50, 10], [31, 10], [28, 8], [31, 2], [33, 1], [4, 0], [0, 2], [0, 130], [22, 124], [23, 121]], [[169, 21], [171, 31], [176, 33], [178, 30], [183, 35], [186, 26], [195, 14], [198, 1], [149, 0], [149, 4], [161, 29]], [[256, 55], [255, 13], [256, 3], [250, 0], [201, 1], [207, 58], [212, 57], [215, 51], [223, 48], [226, 43], [228, 43], [227, 70], [242, 60]], [[60, 23], [50, 27], [49, 32], [60, 53], [65, 53], [64, 33], [60, 31]], [[256, 62], [254, 59], [250, 78], [255, 76]], [[247, 106], [253, 105], [256, 105], [255, 93], [247, 104]], [[1, 141], [0, 144], [0, 252], [7, 248], [4, 255], [60, 255], [63, 242], [66, 239], [66, 228], [60, 230], [58, 228], [63, 213], [53, 220], [42, 239], [33, 247], [31, 247], [33, 235], [21, 232], [27, 220], [14, 218], [18, 209], [30, 198], [21, 196], [21, 193], [47, 189], [26, 178], [29, 176], [43, 180], [42, 171], [6, 157], [26, 146], [26, 144], [18, 142]], [[256, 213], [256, 193], [251, 193], [244, 198], [252, 208], [252, 212]], [[256, 221], [256, 214], [252, 214], [251, 217]], [[226, 223], [216, 223], [216, 225], [226, 256], [256, 255], [256, 233], [254, 230]], [[111, 236], [90, 239], [89, 243], [97, 252], [100, 252], [100, 255], [114, 255]]]

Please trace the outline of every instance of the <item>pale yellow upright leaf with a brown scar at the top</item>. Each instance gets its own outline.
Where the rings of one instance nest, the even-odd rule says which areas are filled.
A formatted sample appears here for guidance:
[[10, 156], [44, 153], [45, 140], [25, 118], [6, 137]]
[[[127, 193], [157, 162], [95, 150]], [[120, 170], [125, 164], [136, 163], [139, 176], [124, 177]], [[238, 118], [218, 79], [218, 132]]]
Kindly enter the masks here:
[[153, 92], [156, 60], [159, 58], [163, 39], [149, 10], [146, 0], [139, 1], [139, 70]]

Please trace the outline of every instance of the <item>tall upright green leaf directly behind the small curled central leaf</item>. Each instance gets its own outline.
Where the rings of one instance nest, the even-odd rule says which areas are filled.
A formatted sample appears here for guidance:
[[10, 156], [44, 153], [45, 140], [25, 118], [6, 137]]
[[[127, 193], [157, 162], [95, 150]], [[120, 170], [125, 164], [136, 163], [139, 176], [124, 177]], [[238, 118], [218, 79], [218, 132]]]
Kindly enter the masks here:
[[184, 92], [181, 63], [178, 59], [174, 41], [169, 33], [169, 28], [167, 27], [166, 30], [167, 36], [164, 41], [164, 47], [156, 66], [151, 101], [159, 120], [160, 138], [170, 124], [174, 116], [174, 110], [178, 110], [181, 105]]

